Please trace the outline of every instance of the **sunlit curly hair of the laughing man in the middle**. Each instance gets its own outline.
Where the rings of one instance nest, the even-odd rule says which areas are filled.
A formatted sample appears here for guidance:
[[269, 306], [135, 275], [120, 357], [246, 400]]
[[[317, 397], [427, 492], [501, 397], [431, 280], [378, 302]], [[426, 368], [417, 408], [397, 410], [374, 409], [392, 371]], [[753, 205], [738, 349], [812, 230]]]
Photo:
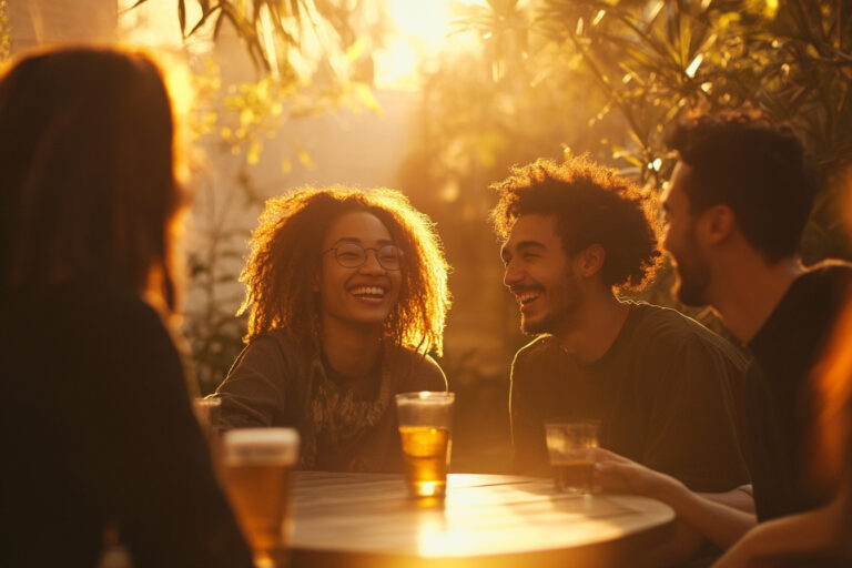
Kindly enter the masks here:
[[662, 257], [658, 224], [647, 196], [615, 170], [586, 155], [564, 163], [539, 159], [514, 166], [491, 189], [499, 195], [491, 220], [503, 239], [521, 215], [551, 215], [569, 255], [592, 244], [604, 247], [604, 285], [639, 290], [653, 277]]

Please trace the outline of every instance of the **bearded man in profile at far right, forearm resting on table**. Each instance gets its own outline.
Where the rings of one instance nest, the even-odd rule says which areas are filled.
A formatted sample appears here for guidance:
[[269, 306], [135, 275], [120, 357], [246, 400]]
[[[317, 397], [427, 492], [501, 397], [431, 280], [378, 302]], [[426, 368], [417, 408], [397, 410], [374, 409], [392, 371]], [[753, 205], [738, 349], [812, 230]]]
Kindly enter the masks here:
[[[667, 236], [686, 304], [709, 304], [753, 356], [736, 416], [757, 521], [825, 506], [812, 477], [819, 402], [809, 381], [846, 302], [852, 270], [805, 268], [799, 247], [818, 180], [789, 129], [760, 116], [701, 116], [671, 135], [679, 153], [663, 195]], [[710, 503], [668, 476], [625, 460], [602, 464], [605, 485], [651, 495], [721, 547], [755, 518]]]

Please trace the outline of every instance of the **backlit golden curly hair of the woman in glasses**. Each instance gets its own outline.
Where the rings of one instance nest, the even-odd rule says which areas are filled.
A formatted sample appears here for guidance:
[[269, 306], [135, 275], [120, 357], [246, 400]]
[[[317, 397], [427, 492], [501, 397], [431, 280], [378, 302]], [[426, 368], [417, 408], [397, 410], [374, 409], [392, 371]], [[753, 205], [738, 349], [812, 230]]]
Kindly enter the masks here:
[[320, 306], [312, 285], [320, 272], [320, 248], [334, 220], [352, 211], [378, 217], [405, 252], [403, 285], [385, 321], [385, 336], [395, 344], [440, 355], [450, 304], [444, 251], [434, 223], [405, 195], [387, 189], [303, 187], [266, 202], [240, 276], [246, 295], [239, 313], [248, 312], [245, 341], [282, 329], [297, 342], [317, 347]]

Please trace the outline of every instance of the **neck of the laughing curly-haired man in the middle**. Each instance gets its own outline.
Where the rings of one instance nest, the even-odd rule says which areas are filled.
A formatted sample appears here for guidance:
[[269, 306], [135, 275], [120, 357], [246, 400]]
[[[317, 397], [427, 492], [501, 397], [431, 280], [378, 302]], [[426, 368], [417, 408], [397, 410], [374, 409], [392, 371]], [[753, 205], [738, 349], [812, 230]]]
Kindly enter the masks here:
[[630, 311], [612, 291], [587, 294], [558, 334], [565, 349], [584, 363], [598, 361], [612, 346]]

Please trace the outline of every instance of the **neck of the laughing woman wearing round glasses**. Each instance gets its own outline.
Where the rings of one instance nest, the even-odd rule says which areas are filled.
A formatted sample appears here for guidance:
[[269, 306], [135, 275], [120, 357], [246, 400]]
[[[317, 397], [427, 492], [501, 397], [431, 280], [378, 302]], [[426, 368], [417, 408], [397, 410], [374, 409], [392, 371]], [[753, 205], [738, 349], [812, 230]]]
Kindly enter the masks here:
[[382, 349], [382, 324], [353, 325], [323, 314], [322, 325], [322, 348], [332, 368], [346, 377], [365, 377]]

